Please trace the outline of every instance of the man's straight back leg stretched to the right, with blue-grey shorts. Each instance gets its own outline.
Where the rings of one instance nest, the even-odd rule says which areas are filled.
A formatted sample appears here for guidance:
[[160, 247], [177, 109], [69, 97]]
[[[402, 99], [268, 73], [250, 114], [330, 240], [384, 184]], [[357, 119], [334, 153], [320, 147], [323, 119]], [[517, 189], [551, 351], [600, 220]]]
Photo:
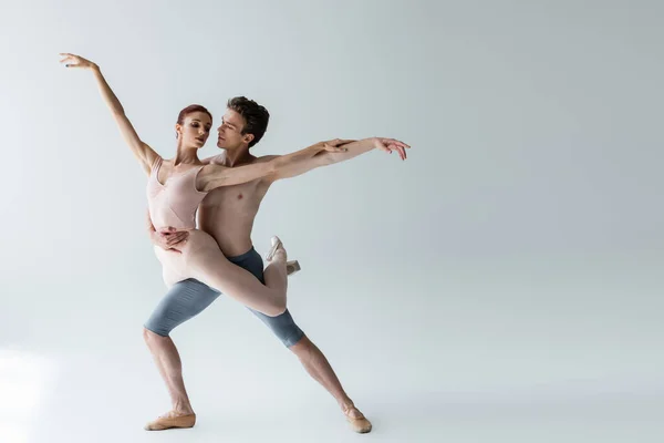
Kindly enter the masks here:
[[[228, 257], [228, 260], [247, 269], [260, 281], [263, 281], [262, 259], [255, 249], [238, 257]], [[339, 378], [334, 373], [334, 370], [332, 370], [325, 356], [304, 336], [304, 332], [295, 324], [288, 309], [277, 317], [269, 317], [253, 309], [248, 309], [270, 328], [287, 348], [298, 356], [307, 372], [334, 396], [353, 431], [361, 433], [370, 432], [372, 427], [371, 422], [355, 408], [353, 401], [343, 390]]]

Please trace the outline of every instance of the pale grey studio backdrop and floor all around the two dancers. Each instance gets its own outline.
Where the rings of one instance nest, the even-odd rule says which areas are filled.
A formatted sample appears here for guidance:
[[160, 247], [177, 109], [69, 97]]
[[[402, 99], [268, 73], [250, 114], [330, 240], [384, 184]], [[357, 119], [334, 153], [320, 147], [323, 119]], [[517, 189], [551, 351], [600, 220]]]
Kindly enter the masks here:
[[[1, 441], [662, 440], [661, 2], [54, 3], [0, 14]], [[272, 114], [257, 155], [413, 146], [278, 183], [253, 231], [372, 434], [226, 298], [173, 334], [199, 425], [142, 431], [169, 405], [145, 176], [59, 52], [164, 156], [238, 94]]]

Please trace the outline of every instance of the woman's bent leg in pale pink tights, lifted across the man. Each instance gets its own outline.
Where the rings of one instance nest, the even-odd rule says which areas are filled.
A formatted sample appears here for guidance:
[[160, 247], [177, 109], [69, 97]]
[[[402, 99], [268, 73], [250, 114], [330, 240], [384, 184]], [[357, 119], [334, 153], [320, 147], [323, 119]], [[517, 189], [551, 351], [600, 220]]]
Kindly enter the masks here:
[[[178, 256], [180, 255], [178, 254]], [[226, 293], [253, 310], [270, 317], [279, 316], [286, 310], [288, 278], [287, 255], [283, 247], [277, 250], [266, 269], [266, 285], [262, 285], [249, 271], [228, 261], [217, 241], [201, 230], [189, 233], [187, 245], [183, 248], [181, 259], [185, 267], [183, 274]]]

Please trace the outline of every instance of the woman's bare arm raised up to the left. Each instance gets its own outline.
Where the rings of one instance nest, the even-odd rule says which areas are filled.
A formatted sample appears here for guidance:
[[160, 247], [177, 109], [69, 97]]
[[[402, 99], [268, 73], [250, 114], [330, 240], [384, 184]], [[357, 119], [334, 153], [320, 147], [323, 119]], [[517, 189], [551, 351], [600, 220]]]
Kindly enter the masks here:
[[125, 115], [124, 107], [122, 107], [120, 100], [117, 100], [117, 96], [115, 96], [111, 86], [106, 83], [106, 79], [102, 75], [100, 66], [80, 55], [69, 53], [62, 53], [60, 55], [64, 56], [60, 63], [64, 63], [66, 68], [82, 68], [92, 71], [102, 94], [102, 99], [104, 99], [104, 102], [111, 110], [113, 119], [115, 119], [115, 123], [117, 123], [117, 127], [120, 127], [122, 137], [141, 163], [143, 171], [145, 171], [146, 174], [149, 174], [153, 163], [159, 155], [138, 137], [132, 122], [129, 122], [129, 119]]

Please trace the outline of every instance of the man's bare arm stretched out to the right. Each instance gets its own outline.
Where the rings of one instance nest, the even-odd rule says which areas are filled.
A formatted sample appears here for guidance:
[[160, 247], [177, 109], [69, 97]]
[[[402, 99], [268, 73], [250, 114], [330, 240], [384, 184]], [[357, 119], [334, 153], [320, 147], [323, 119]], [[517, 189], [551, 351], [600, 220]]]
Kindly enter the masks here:
[[[345, 162], [346, 159], [351, 159], [356, 157], [357, 155], [367, 153], [372, 150], [381, 150], [386, 153], [392, 154], [393, 151], [398, 153], [401, 159], [406, 159], [406, 150], [411, 146], [407, 144], [400, 142], [394, 138], [382, 138], [382, 137], [372, 137], [364, 138], [359, 141], [352, 141], [345, 143], [343, 146], [346, 151], [344, 152], [328, 152], [323, 151], [314, 155], [313, 157], [302, 159], [300, 162], [292, 163], [288, 166], [279, 168], [272, 174], [272, 179], [282, 179], [295, 177], [298, 175], [304, 174], [311, 169], [315, 169], [317, 167], [332, 165], [334, 163]], [[276, 156], [264, 156], [261, 157], [260, 161], [269, 161], [274, 158]]]

